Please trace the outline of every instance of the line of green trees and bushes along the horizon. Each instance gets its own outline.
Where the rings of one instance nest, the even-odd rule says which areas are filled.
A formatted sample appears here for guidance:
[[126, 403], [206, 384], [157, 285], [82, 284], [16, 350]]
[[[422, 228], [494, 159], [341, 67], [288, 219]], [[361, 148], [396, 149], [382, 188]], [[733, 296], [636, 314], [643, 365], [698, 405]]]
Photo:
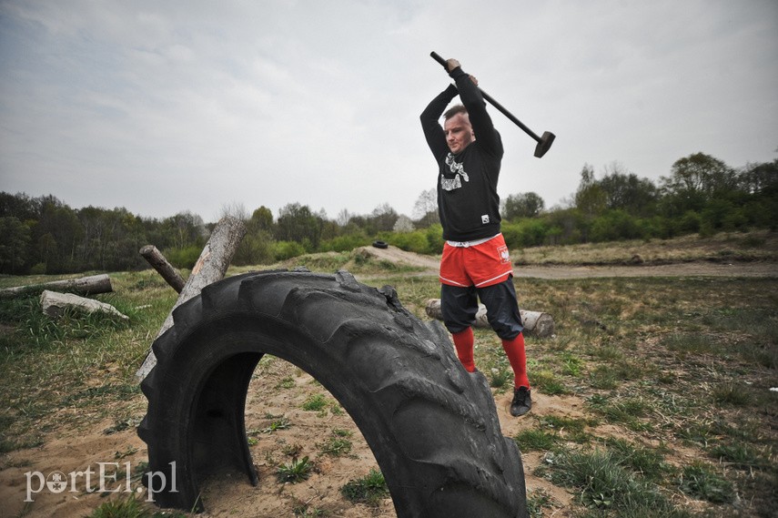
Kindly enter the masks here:
[[[223, 212], [242, 218], [247, 235], [233, 264], [269, 264], [305, 253], [348, 251], [383, 240], [401, 249], [440, 253], [443, 247], [435, 189], [423, 191], [413, 218], [389, 204], [370, 214], [290, 203], [274, 218], [267, 207], [250, 215], [241, 206]], [[677, 160], [658, 182], [621, 164], [601, 178], [585, 164], [576, 191], [545, 208], [536, 193], [502, 201], [502, 231], [511, 249], [621, 239], [667, 239], [684, 234], [772, 229], [778, 225], [778, 159], [731, 168], [696, 153]], [[153, 244], [178, 268], [191, 268], [215, 223], [185, 211], [143, 218], [126, 208], [70, 208], [54, 196], [0, 192], [0, 273], [22, 275], [87, 270], [145, 269], [138, 250]]]

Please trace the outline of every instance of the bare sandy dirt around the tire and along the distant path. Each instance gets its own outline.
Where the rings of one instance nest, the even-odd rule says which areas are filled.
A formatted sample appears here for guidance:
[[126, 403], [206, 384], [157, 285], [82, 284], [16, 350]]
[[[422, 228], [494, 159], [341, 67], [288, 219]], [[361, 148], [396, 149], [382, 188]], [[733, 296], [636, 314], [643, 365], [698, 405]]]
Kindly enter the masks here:
[[[426, 274], [434, 275], [438, 269], [437, 260], [399, 249], [367, 248], [365, 253], [420, 266], [427, 269]], [[541, 279], [649, 275], [765, 277], [778, 276], [778, 268], [773, 263], [518, 267], [516, 275]], [[328, 398], [328, 407], [323, 411], [302, 410], [303, 401], [318, 393]], [[142, 399], [142, 396], [136, 397]], [[502, 433], [506, 436], [530, 427], [535, 418], [543, 415], [578, 418], [584, 412], [581, 398], [548, 396], [533, 391], [532, 411], [516, 419], [508, 412], [510, 397], [510, 392], [495, 393]], [[253, 487], [245, 476], [235, 473], [203, 483], [201, 489], [206, 512], [201, 516], [295, 516], [296, 509], [297, 515], [308, 516], [318, 515], [314, 514], [317, 509], [327, 511], [326, 515], [330, 517], [395, 516], [389, 498], [378, 507], [368, 507], [350, 503], [340, 494], [340, 488], [345, 483], [366, 475], [371, 468], [378, 466], [359, 429], [345, 411], [338, 409], [337, 401], [308, 374], [285, 361], [270, 361], [262, 368], [261, 375], [252, 381], [246, 408], [247, 431], [253, 442], [251, 451], [260, 474], [259, 485]], [[284, 416], [290, 426], [275, 432], [262, 432], [267, 431], [278, 416]], [[139, 422], [143, 415], [135, 417]], [[63, 426], [48, 433], [43, 445], [38, 448], [4, 454], [0, 458], [0, 516], [88, 516], [107, 499], [126, 497], [130, 493], [145, 499], [147, 493], [136, 479], [136, 468], [147, 460], [146, 444], [137, 437], [133, 426], [121, 432], [106, 432], [113, 424], [107, 420], [79, 429]], [[601, 426], [591, 432], [600, 436], [620, 433], [610, 426]], [[348, 437], [350, 451], [341, 452], [339, 456], [326, 453], [328, 441], [338, 433], [338, 437]], [[314, 472], [304, 482], [278, 482], [276, 466], [290, 462], [293, 456], [308, 456], [314, 462]], [[528, 491], [547, 493], [557, 505], [553, 516], [568, 516], [566, 504], [572, 495], [531, 474], [543, 462], [541, 455], [525, 454], [523, 462]], [[102, 488], [99, 487], [101, 469], [104, 472]], [[57, 475], [66, 482], [65, 485], [56, 484]], [[47, 485], [45, 482], [48, 482]], [[308, 514], [301, 514], [304, 509], [308, 509]]]

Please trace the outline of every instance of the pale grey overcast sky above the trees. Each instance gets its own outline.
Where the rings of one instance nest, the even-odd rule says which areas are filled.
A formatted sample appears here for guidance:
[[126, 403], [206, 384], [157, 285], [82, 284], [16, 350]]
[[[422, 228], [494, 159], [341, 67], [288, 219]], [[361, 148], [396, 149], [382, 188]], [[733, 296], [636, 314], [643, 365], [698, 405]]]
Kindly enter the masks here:
[[419, 114], [456, 57], [491, 108], [500, 196], [581, 168], [658, 180], [692, 153], [778, 157], [775, 0], [0, 0], [0, 190], [217, 220], [298, 202], [412, 215], [437, 168]]

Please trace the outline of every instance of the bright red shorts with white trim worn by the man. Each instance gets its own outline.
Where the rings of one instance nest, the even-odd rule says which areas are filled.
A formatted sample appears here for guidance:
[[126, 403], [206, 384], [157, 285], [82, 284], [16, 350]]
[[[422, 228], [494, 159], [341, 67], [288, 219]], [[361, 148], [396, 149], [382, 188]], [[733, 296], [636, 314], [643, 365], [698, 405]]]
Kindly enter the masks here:
[[443, 245], [440, 259], [440, 282], [449, 286], [484, 288], [510, 278], [508, 247], [502, 234], [470, 247]]

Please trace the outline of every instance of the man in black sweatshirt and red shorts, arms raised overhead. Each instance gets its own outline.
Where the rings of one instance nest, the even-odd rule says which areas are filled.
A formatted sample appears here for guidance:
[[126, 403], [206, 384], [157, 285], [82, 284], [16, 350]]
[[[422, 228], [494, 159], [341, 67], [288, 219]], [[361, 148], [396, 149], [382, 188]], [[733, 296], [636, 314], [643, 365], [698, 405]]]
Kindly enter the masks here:
[[[440, 306], [457, 356], [469, 372], [473, 361], [472, 324], [480, 299], [490, 326], [502, 340], [513, 369], [510, 414], [520, 416], [532, 406], [524, 327], [521, 323], [508, 247], [500, 233], [500, 175], [503, 148], [494, 129], [475, 77], [462, 71], [459, 61], [446, 62], [456, 82], [432, 99], [421, 114], [421, 127], [437, 160], [438, 210], [443, 226], [440, 261]], [[462, 105], [450, 108], [455, 96]], [[438, 119], [443, 115], [443, 127]]]

